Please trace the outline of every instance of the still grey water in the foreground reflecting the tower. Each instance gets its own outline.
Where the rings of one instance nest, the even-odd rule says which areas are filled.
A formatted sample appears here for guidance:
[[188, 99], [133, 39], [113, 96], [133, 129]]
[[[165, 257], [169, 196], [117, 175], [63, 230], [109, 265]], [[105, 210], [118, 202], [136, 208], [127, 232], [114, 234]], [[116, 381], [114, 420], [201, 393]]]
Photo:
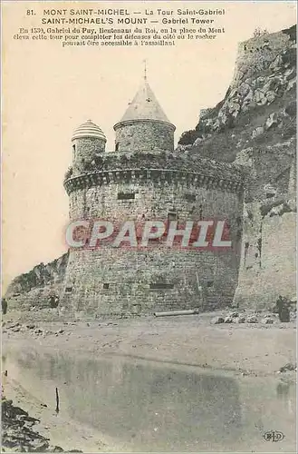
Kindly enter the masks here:
[[[264, 448], [264, 431], [275, 428], [275, 401], [280, 396], [293, 401], [281, 383], [276, 388], [274, 382], [271, 390], [264, 382], [257, 388], [257, 381], [246, 380], [240, 404], [239, 380], [150, 361], [31, 351], [17, 352], [12, 363], [41, 399], [53, 406], [58, 388], [61, 412], [129, 443], [131, 450], [243, 451], [252, 449], [252, 439]], [[275, 429], [289, 423], [294, 428], [293, 413], [287, 419], [284, 411], [277, 416], [284, 426]]]

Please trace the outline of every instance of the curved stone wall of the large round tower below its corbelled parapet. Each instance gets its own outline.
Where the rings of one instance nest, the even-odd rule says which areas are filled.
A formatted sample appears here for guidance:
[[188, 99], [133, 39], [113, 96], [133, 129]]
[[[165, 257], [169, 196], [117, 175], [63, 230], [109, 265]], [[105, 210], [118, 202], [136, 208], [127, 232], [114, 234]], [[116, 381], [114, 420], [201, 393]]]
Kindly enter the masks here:
[[[124, 173], [123, 173], [124, 175]], [[130, 194], [120, 200], [119, 194]], [[232, 249], [222, 252], [173, 250], [160, 244], [152, 251], [123, 248], [70, 252], [62, 306], [96, 314], [152, 313], [161, 310], [211, 310], [233, 301], [239, 265], [242, 192], [183, 179], [116, 181], [71, 193], [72, 219], [179, 222], [226, 219]], [[159, 289], [150, 289], [154, 283]], [[162, 288], [164, 286], [164, 288]], [[198, 287], [202, 287], [199, 291]], [[167, 288], [166, 288], [167, 287]]]

